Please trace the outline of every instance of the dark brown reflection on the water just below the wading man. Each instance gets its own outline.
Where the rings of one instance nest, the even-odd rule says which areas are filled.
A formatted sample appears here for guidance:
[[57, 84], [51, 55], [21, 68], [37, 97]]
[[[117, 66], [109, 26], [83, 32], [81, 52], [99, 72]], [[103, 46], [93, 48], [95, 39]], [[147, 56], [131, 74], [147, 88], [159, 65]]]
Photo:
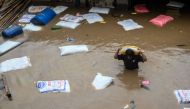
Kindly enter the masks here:
[[127, 90], [136, 90], [140, 89], [140, 80], [144, 80], [144, 77], [139, 76], [139, 70], [127, 70], [124, 69], [118, 75], [116, 75], [118, 79], [123, 83]]

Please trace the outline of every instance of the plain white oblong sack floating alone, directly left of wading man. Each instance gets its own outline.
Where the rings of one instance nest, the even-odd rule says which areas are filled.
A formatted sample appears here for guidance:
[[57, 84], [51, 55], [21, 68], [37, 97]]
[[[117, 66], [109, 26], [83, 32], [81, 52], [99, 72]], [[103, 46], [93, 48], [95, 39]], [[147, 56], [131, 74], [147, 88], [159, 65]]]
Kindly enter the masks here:
[[87, 45], [69, 45], [69, 46], [59, 47], [59, 49], [61, 51], [62, 56], [88, 51]]

